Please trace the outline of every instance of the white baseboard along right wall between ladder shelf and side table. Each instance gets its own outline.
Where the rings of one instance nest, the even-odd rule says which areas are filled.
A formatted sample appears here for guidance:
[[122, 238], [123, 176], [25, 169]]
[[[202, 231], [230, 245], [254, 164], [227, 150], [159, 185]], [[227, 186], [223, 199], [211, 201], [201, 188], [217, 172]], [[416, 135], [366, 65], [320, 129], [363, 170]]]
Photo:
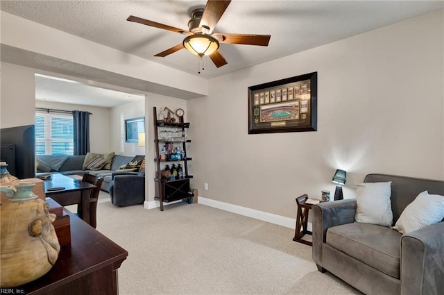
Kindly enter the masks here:
[[[198, 197], [198, 203], [202, 204], [202, 205], [207, 205], [210, 207], [218, 208], [221, 210], [225, 210], [228, 212], [241, 214], [241, 215], [251, 217], [254, 219], [259, 219], [262, 221], [270, 222], [271, 224], [278, 224], [279, 226], [285, 226], [286, 228], [293, 228], [294, 229], [296, 227], [296, 219], [289, 218], [289, 217], [283, 217], [283, 216], [273, 214], [273, 213], [250, 209], [250, 208], [242, 207], [239, 205], [233, 205], [230, 203], [224, 203], [221, 201], [215, 201], [212, 199], [204, 198], [203, 196]], [[311, 224], [309, 224], [308, 227], [311, 228]]]

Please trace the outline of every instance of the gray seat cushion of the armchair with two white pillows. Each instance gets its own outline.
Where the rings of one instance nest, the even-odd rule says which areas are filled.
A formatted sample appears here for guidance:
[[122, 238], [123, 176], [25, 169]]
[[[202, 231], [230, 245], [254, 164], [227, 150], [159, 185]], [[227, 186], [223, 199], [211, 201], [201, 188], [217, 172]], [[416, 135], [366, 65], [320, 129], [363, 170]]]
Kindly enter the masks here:
[[388, 276], [400, 278], [398, 231], [386, 226], [352, 223], [327, 230], [327, 244]]

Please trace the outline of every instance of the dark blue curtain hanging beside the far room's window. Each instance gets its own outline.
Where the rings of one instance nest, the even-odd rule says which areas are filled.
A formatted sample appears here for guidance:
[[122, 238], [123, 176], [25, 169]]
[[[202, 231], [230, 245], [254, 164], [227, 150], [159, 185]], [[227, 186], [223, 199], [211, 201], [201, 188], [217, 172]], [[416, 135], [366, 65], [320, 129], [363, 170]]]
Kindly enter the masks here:
[[74, 119], [74, 155], [86, 155], [89, 152], [89, 112], [73, 110]]

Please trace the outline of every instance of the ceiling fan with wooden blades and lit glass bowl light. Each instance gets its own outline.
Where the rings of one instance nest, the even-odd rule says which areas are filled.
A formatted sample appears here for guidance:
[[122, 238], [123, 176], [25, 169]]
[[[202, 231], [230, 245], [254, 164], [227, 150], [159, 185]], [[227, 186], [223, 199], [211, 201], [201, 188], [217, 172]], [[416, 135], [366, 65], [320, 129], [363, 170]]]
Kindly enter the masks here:
[[130, 15], [126, 20], [187, 35], [182, 43], [157, 53], [155, 56], [164, 58], [171, 53], [185, 48], [194, 55], [199, 56], [200, 59], [202, 59], [203, 56], [210, 56], [210, 59], [216, 67], [222, 67], [228, 62], [218, 50], [219, 43], [268, 46], [271, 37], [271, 35], [214, 33], [214, 27], [219, 22], [219, 19], [221, 19], [223, 12], [228, 8], [228, 5], [230, 5], [230, 2], [231, 1], [208, 0], [205, 8], [193, 10], [191, 12], [191, 19], [188, 22], [189, 31], [133, 15]]

